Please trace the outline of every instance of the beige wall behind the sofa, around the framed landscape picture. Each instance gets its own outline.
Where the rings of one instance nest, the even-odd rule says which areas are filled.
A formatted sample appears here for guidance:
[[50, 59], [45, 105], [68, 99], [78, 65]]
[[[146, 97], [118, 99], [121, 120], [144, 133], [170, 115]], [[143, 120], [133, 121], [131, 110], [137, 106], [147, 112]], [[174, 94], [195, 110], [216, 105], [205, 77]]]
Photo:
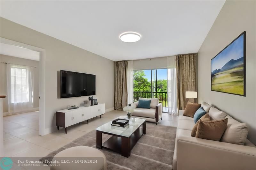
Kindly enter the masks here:
[[[226, 1], [198, 52], [198, 100], [249, 126], [256, 144], [256, 1]], [[246, 31], [246, 97], [211, 91], [211, 59]]]

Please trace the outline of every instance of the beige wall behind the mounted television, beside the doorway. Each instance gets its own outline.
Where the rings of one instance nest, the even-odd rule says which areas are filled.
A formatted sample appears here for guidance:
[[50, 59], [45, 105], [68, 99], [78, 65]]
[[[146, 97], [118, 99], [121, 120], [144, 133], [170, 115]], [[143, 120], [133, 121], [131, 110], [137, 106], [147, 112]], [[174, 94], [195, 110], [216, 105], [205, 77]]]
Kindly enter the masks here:
[[[43, 33], [0, 18], [0, 36], [45, 49], [45, 128], [56, 129], [56, 111], [82, 105], [87, 97], [58, 99], [57, 71], [70, 70], [96, 75], [96, 96], [106, 109], [114, 107], [114, 62]], [[86, 41], [86, 40], [84, 40]]]

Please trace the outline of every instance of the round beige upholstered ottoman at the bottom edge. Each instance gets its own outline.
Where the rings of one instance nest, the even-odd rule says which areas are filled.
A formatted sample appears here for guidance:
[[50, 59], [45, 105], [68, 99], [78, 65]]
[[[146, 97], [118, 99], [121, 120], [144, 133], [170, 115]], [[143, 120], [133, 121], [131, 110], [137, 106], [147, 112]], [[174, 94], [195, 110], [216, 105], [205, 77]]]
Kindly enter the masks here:
[[[60, 164], [55, 163], [59, 161]], [[107, 170], [107, 159], [100, 150], [76, 146], [57, 153], [50, 170]]]

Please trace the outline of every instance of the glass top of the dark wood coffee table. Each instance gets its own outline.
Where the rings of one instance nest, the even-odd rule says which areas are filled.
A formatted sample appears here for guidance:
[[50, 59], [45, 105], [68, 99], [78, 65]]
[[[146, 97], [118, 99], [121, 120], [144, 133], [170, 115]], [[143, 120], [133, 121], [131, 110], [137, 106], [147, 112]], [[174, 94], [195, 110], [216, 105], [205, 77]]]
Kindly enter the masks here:
[[[119, 116], [117, 118], [128, 120], [127, 116]], [[115, 119], [117, 119], [117, 118], [115, 118]], [[115, 119], [113, 119], [113, 120], [115, 120]], [[111, 123], [112, 123], [112, 121], [111, 121], [111, 122], [108, 122], [104, 125], [101, 125], [100, 127], [96, 128], [96, 130], [111, 133], [111, 134], [114, 134], [114, 135], [130, 137], [132, 135], [132, 133], [136, 129], [138, 129], [138, 127], [140, 127], [145, 121], [146, 121], [146, 119], [131, 117], [131, 119], [129, 120], [129, 125], [126, 126], [125, 128], [117, 127], [117, 126], [111, 126]]]

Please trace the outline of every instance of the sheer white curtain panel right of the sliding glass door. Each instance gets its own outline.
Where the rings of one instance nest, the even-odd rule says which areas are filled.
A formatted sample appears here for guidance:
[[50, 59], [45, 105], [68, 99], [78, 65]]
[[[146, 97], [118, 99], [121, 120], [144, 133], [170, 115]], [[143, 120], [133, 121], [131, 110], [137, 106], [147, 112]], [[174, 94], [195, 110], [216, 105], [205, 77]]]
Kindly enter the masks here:
[[176, 56], [167, 57], [167, 96], [168, 113], [178, 113], [177, 107], [177, 75]]

